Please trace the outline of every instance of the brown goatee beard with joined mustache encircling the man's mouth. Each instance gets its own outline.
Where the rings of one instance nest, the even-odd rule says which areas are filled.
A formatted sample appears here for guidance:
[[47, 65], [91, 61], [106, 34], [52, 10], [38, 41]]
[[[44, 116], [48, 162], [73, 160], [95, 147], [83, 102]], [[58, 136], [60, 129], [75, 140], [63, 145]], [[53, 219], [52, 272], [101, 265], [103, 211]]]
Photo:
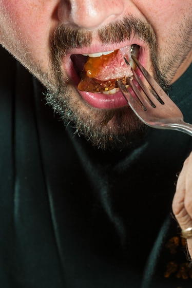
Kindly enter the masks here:
[[[114, 44], [131, 39], [136, 35], [148, 44], [154, 75], [164, 90], [168, 85], [157, 65], [157, 43], [155, 33], [149, 24], [131, 16], [123, 21], [107, 25], [98, 30], [97, 37], [101, 43]], [[118, 109], [98, 109], [85, 103], [69, 79], [64, 78], [62, 59], [72, 48], [90, 46], [92, 32], [72, 29], [60, 25], [51, 35], [51, 74], [52, 84], [47, 83], [46, 100], [64, 121], [65, 126], [74, 128], [74, 133], [83, 136], [94, 147], [103, 150], [122, 150], [131, 147], [146, 135], [147, 126], [139, 120], [127, 105]], [[75, 96], [74, 96], [75, 94]]]

